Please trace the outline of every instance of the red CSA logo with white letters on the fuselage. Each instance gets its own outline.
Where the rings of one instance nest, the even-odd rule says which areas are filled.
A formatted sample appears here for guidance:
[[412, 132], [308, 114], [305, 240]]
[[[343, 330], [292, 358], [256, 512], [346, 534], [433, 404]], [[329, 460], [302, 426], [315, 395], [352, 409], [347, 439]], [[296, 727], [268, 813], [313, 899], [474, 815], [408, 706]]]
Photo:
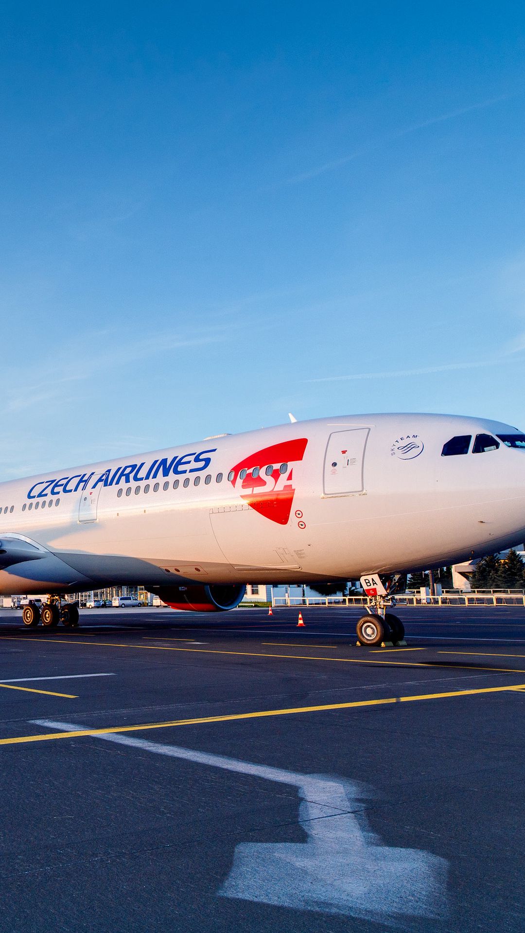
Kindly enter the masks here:
[[[303, 459], [307, 443], [307, 438], [285, 440], [282, 444], [273, 444], [257, 453], [250, 453], [232, 467], [232, 485], [239, 489], [241, 498], [248, 502], [248, 506], [264, 518], [277, 524], [288, 522], [295, 493], [293, 464]], [[287, 465], [285, 473], [279, 470], [281, 464]], [[266, 473], [268, 466], [273, 467], [269, 474]], [[242, 479], [239, 475], [241, 471], [245, 474]]]

